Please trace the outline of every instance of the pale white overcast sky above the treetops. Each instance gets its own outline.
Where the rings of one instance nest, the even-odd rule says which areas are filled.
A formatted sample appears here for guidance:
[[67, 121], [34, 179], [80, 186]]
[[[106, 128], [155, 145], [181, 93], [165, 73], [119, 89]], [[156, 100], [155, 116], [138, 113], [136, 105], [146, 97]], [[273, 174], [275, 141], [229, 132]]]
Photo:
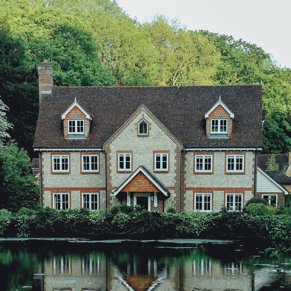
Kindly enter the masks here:
[[281, 68], [291, 68], [290, 0], [116, 0], [143, 23], [157, 14], [178, 19], [189, 30], [242, 38], [254, 43]]

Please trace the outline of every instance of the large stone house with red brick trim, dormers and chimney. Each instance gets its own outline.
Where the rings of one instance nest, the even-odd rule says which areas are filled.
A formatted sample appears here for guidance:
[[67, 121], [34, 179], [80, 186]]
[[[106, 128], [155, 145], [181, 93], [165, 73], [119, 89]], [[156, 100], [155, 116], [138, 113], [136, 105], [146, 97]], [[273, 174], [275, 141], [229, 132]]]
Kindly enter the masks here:
[[38, 65], [40, 204], [241, 210], [254, 196], [262, 87], [54, 87]]

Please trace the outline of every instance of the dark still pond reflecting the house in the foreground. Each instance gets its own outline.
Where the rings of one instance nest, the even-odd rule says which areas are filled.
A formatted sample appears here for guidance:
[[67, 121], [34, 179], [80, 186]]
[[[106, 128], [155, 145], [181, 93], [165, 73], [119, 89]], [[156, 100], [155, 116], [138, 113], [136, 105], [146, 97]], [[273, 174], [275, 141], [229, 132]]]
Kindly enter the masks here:
[[263, 242], [0, 240], [1, 290], [291, 290], [289, 250]]

